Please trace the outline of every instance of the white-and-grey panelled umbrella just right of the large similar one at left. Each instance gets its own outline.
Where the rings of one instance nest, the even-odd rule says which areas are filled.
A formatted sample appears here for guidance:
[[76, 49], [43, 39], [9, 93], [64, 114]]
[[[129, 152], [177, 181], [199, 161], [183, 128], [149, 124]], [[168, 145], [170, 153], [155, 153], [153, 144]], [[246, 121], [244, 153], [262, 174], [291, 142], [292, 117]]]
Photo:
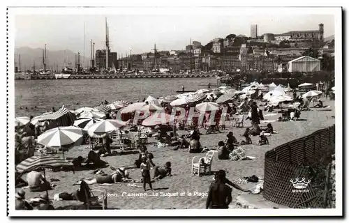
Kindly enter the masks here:
[[87, 132], [89, 132], [90, 137], [103, 137], [105, 134], [110, 134], [115, 130], [124, 128], [126, 125], [128, 125], [128, 122], [126, 121], [107, 119], [89, 126]]

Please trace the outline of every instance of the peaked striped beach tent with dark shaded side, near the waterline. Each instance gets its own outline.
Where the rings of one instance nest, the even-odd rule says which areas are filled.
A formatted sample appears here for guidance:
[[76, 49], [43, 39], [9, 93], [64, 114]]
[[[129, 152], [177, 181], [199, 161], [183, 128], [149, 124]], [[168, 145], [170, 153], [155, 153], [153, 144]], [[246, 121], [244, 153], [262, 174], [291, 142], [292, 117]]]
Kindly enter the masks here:
[[38, 121], [50, 121], [53, 123], [53, 126], [70, 126], [74, 124], [76, 120], [75, 114], [71, 113], [63, 105], [61, 109], [52, 114], [43, 115], [39, 118]]

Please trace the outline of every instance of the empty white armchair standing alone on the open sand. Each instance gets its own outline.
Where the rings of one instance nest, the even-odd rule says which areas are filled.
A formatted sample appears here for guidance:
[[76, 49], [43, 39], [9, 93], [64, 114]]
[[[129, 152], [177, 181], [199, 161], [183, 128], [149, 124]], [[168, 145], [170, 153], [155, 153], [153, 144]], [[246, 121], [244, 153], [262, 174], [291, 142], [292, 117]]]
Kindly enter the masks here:
[[191, 174], [194, 174], [195, 176], [200, 176], [201, 174], [211, 174], [213, 157], [214, 151], [209, 151], [206, 153], [205, 157], [200, 157], [198, 162], [195, 162], [195, 159], [198, 158], [198, 156], [194, 156], [193, 160], [191, 160]]

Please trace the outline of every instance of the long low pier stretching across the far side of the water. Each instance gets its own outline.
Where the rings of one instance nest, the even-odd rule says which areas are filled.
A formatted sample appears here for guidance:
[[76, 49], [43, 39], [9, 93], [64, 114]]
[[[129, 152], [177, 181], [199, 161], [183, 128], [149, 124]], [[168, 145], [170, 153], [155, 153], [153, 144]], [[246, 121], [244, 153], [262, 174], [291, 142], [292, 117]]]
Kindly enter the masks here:
[[[66, 79], [140, 79], [140, 78], [207, 78], [214, 74], [161, 74], [161, 75], [70, 75]], [[15, 79], [56, 79], [54, 75], [15, 75]]]

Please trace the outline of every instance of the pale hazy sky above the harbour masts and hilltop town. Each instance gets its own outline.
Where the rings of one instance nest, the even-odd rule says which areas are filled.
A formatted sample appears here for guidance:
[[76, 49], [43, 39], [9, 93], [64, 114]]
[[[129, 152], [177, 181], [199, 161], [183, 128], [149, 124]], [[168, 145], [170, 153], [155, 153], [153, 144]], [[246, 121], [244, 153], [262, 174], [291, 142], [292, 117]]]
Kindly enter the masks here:
[[[324, 24], [324, 36], [334, 35], [333, 15], [17, 15], [15, 47], [43, 48], [90, 55], [105, 47], [105, 17], [109, 26], [110, 48], [119, 56], [158, 50], [185, 49], [190, 39], [206, 45], [230, 33], [250, 36], [251, 24], [263, 33], [317, 30]], [[85, 40], [85, 41], [84, 41]]]

